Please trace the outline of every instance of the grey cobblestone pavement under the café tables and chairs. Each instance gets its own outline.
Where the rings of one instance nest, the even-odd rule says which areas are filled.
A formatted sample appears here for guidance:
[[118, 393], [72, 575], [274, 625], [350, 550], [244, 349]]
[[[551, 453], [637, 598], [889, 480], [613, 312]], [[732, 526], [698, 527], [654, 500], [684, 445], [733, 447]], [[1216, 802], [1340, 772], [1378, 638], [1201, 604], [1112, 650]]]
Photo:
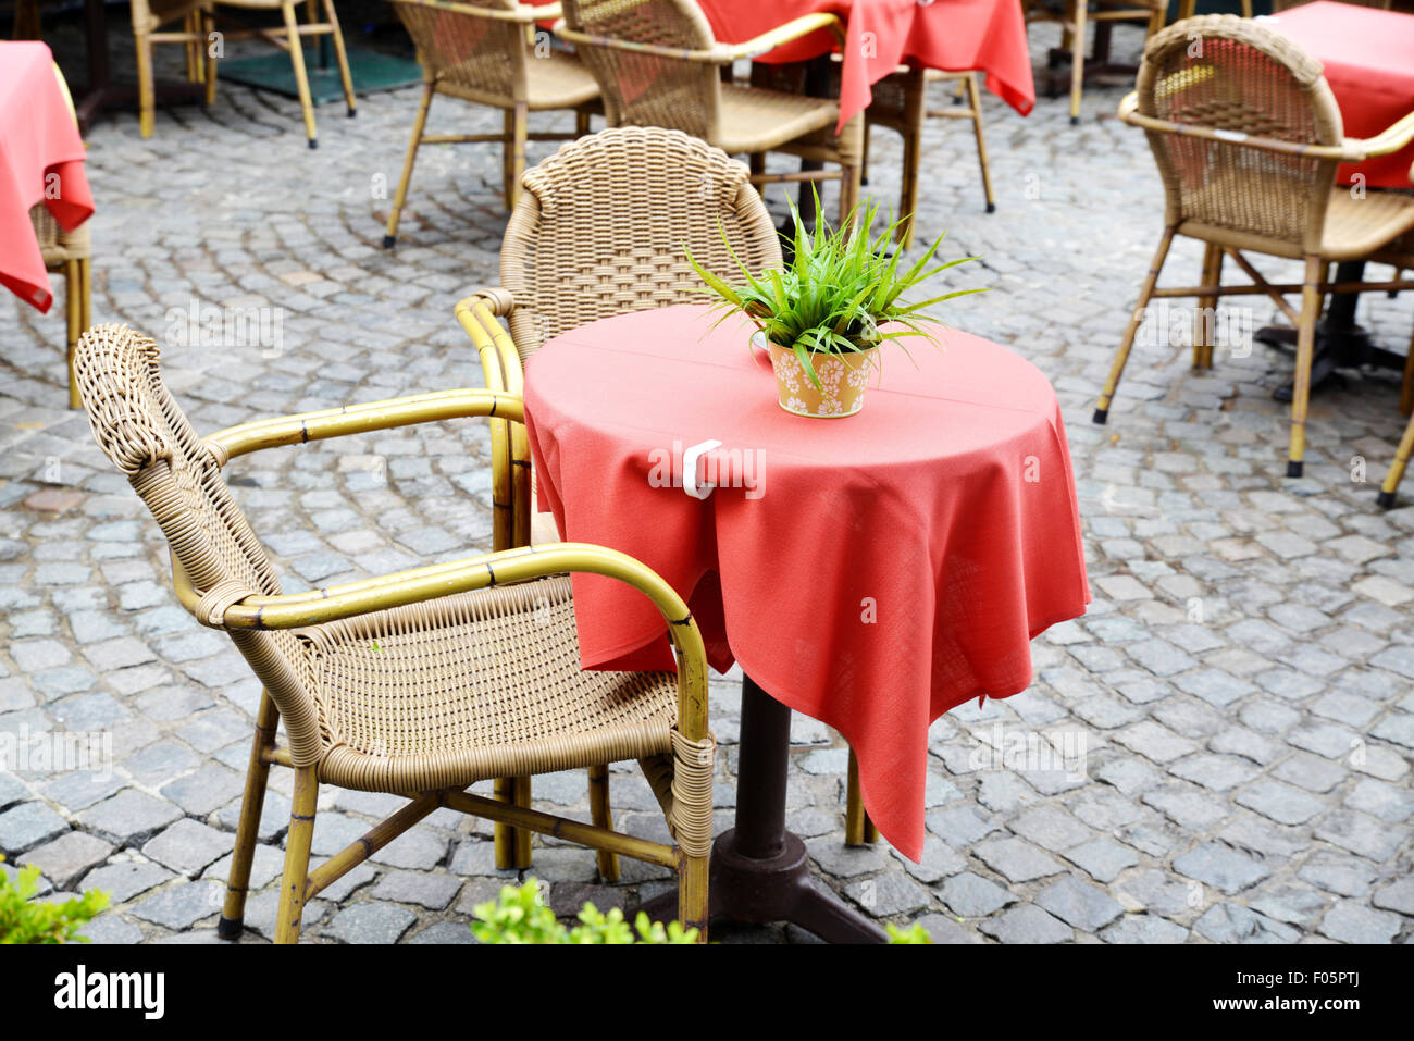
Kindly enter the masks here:
[[[1065, 99], [1019, 119], [988, 98], [994, 215], [967, 132], [939, 120], [921, 215], [925, 239], [946, 228], [945, 252], [981, 255], [962, 281], [995, 287], [950, 306], [954, 324], [1019, 351], [1060, 395], [1096, 600], [1035, 641], [1029, 690], [935, 724], [922, 864], [843, 846], [847, 751], [799, 717], [790, 826], [846, 900], [921, 919], [940, 942], [1408, 941], [1414, 509], [1374, 506], [1404, 423], [1397, 378], [1349, 373], [1315, 400], [1301, 481], [1281, 477], [1287, 426], [1270, 397], [1290, 361], [1261, 347], [1219, 349], [1199, 375], [1184, 347], [1141, 344], [1110, 426], [1090, 426], [1159, 233], [1143, 136], [1107, 117], [1120, 93], [1089, 91], [1079, 127]], [[495, 280], [499, 157], [424, 149], [400, 245], [382, 250], [375, 190], [396, 184], [416, 99], [368, 96], [356, 120], [322, 107], [318, 151], [293, 102], [229, 83], [209, 112], [161, 110], [150, 141], [132, 113], [95, 130], [96, 321], [170, 339], [168, 308], [283, 308], [279, 351], [165, 345], [199, 430], [479, 383], [451, 308]], [[496, 119], [433, 109], [434, 130]], [[896, 198], [898, 157], [877, 133], [868, 191], [881, 199]], [[772, 208], [783, 212], [779, 195]], [[1179, 243], [1165, 281], [1198, 267]], [[1372, 294], [1360, 307], [1403, 349], [1414, 303]], [[1260, 325], [1270, 311], [1227, 317]], [[4, 294], [0, 315], [0, 733], [110, 734], [113, 758], [107, 777], [11, 764], [31, 769], [0, 774], [0, 850], [38, 864], [55, 894], [107, 890], [115, 909], [95, 939], [211, 941], [259, 687], [175, 603], [156, 525], [65, 410], [62, 308], [42, 317]], [[474, 423], [269, 453], [230, 478], [291, 591], [465, 554], [491, 535]], [[737, 697], [734, 679], [714, 680], [720, 826], [737, 793]], [[991, 754], [1018, 735], [1031, 760]], [[1085, 768], [1049, 768], [1051, 748], [1083, 748]], [[250, 942], [271, 931], [288, 779], [271, 774]], [[534, 791], [537, 805], [587, 815], [580, 774]], [[635, 772], [614, 796], [629, 830], [662, 832]], [[327, 791], [315, 854], [396, 803]], [[434, 813], [314, 901], [307, 936], [468, 942], [472, 905], [512, 877], [493, 868], [488, 836]], [[561, 912], [670, 884], [632, 861], [622, 884], [597, 884], [592, 853], [553, 842], [533, 874]], [[812, 939], [776, 926], [715, 936]]]

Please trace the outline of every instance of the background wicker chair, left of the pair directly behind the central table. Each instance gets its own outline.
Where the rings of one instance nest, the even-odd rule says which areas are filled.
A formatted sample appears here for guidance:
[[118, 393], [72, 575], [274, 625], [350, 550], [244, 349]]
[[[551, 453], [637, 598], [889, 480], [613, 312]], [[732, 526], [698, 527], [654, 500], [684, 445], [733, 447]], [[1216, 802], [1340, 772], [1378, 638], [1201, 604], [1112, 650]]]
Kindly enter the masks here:
[[[485, 7], [438, 0], [392, 0], [397, 17], [417, 44], [423, 66], [423, 100], [413, 122], [403, 178], [387, 215], [383, 246], [397, 242], [397, 221], [407, 202], [407, 185], [421, 144], [501, 141], [501, 190], [506, 209], [520, 192], [526, 141], [564, 141], [590, 132], [590, 115], [600, 112], [600, 88], [573, 54], [546, 48], [534, 35], [536, 21], [559, 18], [559, 4], [530, 7], [516, 0], [488, 0]], [[433, 95], [489, 105], [505, 113], [499, 134], [427, 134]], [[573, 110], [574, 133], [530, 133], [529, 113]]]

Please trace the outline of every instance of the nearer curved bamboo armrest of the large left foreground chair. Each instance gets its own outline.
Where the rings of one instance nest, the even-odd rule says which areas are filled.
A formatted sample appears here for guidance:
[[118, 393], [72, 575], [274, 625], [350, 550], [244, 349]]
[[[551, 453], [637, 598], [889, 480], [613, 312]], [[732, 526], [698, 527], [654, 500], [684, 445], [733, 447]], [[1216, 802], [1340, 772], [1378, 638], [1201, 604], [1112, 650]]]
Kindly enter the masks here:
[[[683, 598], [656, 571], [607, 546], [575, 542], [523, 546], [310, 593], [249, 595], [212, 621], [225, 629], [297, 629], [566, 571], [617, 578], [653, 601], [677, 651], [677, 728], [691, 741], [706, 737], [707, 651], [697, 622]], [[199, 597], [175, 559], [173, 576], [178, 598], [195, 611]]]

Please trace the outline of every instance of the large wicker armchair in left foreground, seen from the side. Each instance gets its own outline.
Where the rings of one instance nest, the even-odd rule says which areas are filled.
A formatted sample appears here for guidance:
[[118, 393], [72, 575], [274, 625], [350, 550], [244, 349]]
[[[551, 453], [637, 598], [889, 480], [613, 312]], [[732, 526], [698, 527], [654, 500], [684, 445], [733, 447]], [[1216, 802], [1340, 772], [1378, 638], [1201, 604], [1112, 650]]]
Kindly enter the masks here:
[[[560, 543], [281, 594], [221, 478], [232, 457], [339, 434], [469, 416], [519, 426], [519, 397], [443, 390], [202, 438], [163, 385], [147, 337], [119, 325], [89, 330], [75, 371], [99, 447], [171, 545], [178, 598], [204, 625], [225, 629], [264, 685], [222, 938], [242, 931], [271, 764], [294, 769], [276, 942], [298, 941], [315, 894], [438, 806], [677, 868], [680, 917], [706, 925], [714, 760], [706, 653], [687, 607], [662, 578], [622, 553]], [[508, 463], [495, 455], [502, 487]], [[503, 513], [496, 518], [502, 525]], [[608, 576], [648, 595], [667, 621], [677, 675], [581, 670], [566, 571]], [[277, 744], [280, 720], [287, 741]], [[676, 846], [465, 791], [484, 778], [633, 758]], [[311, 871], [321, 782], [409, 803]]]

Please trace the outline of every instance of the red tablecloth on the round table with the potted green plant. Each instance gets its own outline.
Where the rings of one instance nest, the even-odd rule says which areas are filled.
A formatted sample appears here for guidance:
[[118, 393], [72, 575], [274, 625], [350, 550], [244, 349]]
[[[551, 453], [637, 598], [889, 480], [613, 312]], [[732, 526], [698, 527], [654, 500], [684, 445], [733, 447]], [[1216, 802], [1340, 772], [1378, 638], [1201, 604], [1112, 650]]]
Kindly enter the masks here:
[[[803, 419], [776, 405], [749, 327], [711, 320], [626, 314], [536, 352], [542, 505], [687, 597], [715, 669], [740, 661], [844, 734], [870, 816], [918, 860], [929, 724], [1024, 690], [1029, 641], [1089, 603], [1055, 393], [1019, 355], [943, 331], [945, 349], [909, 345], [918, 368], [889, 348], [857, 416]], [[672, 471], [707, 440], [721, 487], [699, 501]], [[646, 598], [595, 576], [574, 590], [585, 668], [672, 668]]]

